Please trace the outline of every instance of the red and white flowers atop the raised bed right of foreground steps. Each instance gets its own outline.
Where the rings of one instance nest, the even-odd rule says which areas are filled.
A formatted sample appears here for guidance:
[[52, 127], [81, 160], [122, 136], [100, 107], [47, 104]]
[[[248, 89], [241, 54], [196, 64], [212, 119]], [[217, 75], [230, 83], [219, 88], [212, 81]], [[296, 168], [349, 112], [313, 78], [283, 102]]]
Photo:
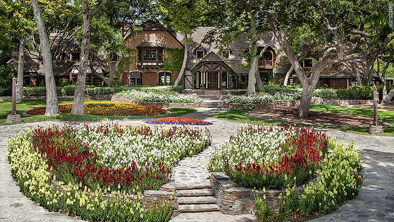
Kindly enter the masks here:
[[325, 134], [315, 129], [249, 125], [212, 154], [209, 167], [241, 187], [281, 189], [310, 180], [327, 149]]

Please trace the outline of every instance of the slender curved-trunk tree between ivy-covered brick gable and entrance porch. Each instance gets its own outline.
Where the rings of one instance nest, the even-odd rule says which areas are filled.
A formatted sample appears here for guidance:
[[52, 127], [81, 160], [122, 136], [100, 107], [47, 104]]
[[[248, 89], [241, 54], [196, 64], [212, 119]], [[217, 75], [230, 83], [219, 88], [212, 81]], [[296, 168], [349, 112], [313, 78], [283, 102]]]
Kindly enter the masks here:
[[166, 21], [174, 25], [174, 31], [178, 31], [184, 36], [185, 50], [181, 70], [174, 82], [174, 87], [176, 87], [185, 73], [189, 36], [195, 28], [204, 24], [209, 7], [204, 0], [163, 0], [161, 4]]

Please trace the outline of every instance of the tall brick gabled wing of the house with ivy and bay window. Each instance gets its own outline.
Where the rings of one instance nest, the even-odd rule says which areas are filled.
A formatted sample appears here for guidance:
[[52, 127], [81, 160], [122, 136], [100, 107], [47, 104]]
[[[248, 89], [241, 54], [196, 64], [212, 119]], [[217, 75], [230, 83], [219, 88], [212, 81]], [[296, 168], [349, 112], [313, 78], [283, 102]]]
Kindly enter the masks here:
[[130, 64], [122, 72], [122, 85], [172, 85], [178, 77], [179, 70], [165, 68], [166, 60], [176, 59], [168, 58], [169, 51], [184, 49], [170, 27], [149, 20], [137, 35], [126, 36], [124, 44], [130, 49]]

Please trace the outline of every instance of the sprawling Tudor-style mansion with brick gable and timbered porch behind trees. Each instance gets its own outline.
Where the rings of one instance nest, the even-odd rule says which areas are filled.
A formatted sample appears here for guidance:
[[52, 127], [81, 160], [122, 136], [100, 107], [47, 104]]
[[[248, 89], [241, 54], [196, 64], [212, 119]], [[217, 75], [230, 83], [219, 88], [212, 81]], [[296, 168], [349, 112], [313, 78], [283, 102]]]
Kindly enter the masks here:
[[[172, 85], [177, 78], [183, 61], [184, 37], [159, 21], [149, 20], [142, 26], [137, 35], [129, 34], [124, 45], [130, 52], [127, 62], [118, 67], [122, 85]], [[185, 74], [181, 84], [184, 88], [223, 90], [246, 88], [248, 85], [248, 64], [242, 54], [248, 52], [249, 41], [245, 34], [234, 39], [229, 46], [222, 47], [216, 43], [206, 43], [205, 37], [214, 27], [196, 28], [188, 40], [188, 55]], [[53, 34], [51, 34], [53, 36]], [[258, 38], [258, 55], [267, 46], [272, 33], [261, 34]], [[54, 67], [57, 81], [74, 84], [79, 69], [80, 46], [73, 41]], [[314, 51], [301, 61], [305, 69], [311, 68], [313, 60], [317, 60], [322, 52]], [[291, 65], [277, 42], [273, 42], [258, 61], [261, 80], [264, 84], [275, 81], [283, 84], [284, 77]], [[116, 57], [113, 60], [117, 60]], [[114, 62], [115, 62], [114, 61]], [[18, 52], [13, 52], [9, 63], [17, 65]], [[106, 58], [89, 61], [86, 84], [105, 86], [97, 73], [108, 75]], [[24, 85], [39, 85], [43, 76], [43, 65], [38, 53], [26, 53], [24, 66]], [[96, 74], [93, 74], [91, 68]], [[363, 73], [362, 66], [358, 66]], [[297, 75], [293, 72], [288, 84], [294, 85]], [[377, 78], [373, 82], [380, 84]], [[392, 79], [388, 81], [392, 84]], [[321, 73], [319, 85], [326, 88], [348, 88], [357, 85], [356, 77], [350, 64], [342, 63], [332, 66]]]

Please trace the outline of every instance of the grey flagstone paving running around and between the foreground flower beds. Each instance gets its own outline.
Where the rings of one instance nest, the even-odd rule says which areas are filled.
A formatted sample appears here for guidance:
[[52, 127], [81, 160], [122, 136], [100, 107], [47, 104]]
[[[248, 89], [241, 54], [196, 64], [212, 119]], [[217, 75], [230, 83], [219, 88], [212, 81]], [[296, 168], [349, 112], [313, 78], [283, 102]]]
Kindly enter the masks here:
[[[185, 115], [186, 118], [198, 118], [213, 122], [207, 127], [212, 135], [213, 146], [194, 157], [180, 161], [174, 169], [176, 183], [194, 184], [208, 177], [207, 166], [210, 152], [218, 144], [227, 142], [237, 128], [245, 124], [211, 118], [222, 109], [201, 108], [198, 113]], [[142, 119], [118, 120], [121, 124], [141, 124]], [[10, 173], [6, 149], [7, 139], [26, 127], [48, 125], [40, 122], [19, 125], [0, 126], [0, 222], [2, 221], [80, 221], [60, 213], [47, 212], [19, 192]], [[358, 196], [347, 201], [338, 210], [313, 221], [394, 221], [394, 138], [355, 135], [347, 132], [324, 130], [330, 136], [346, 143], [353, 139], [361, 157], [366, 159], [363, 173], [368, 178]], [[202, 182], [202, 181], [201, 181]], [[254, 221], [252, 215], [231, 216], [219, 212], [181, 213], [172, 221]]]

